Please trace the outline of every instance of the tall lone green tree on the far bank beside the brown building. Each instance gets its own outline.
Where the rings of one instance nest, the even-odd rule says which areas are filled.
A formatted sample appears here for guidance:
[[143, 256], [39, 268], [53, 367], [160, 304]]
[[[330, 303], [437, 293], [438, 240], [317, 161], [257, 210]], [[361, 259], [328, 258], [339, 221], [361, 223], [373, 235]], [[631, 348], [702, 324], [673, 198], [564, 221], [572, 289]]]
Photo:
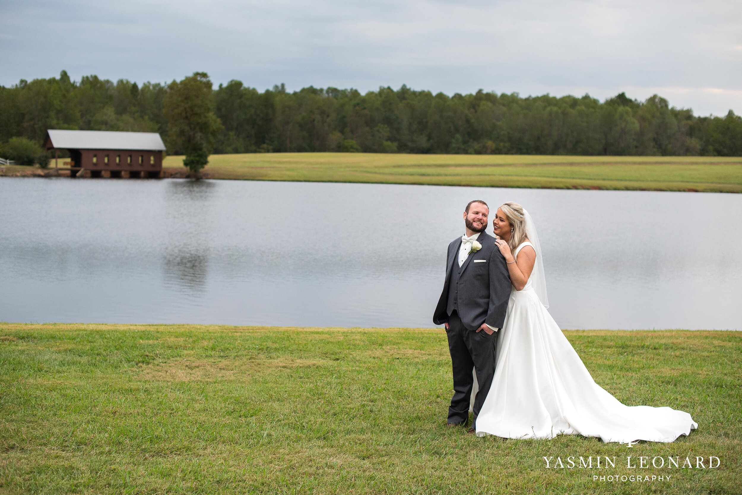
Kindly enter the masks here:
[[209, 76], [194, 73], [183, 81], [168, 84], [163, 111], [168, 119], [168, 144], [185, 154], [183, 165], [197, 173], [209, 163], [214, 139], [223, 129], [212, 110]]

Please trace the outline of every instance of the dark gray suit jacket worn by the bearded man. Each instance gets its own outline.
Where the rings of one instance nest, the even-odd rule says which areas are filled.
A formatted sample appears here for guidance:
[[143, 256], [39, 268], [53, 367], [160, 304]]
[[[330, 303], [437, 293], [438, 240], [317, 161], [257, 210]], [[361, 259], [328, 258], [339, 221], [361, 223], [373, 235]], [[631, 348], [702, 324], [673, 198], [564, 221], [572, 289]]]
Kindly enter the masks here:
[[[469, 330], [476, 331], [482, 323], [487, 323], [490, 327], [502, 328], [505, 324], [505, 313], [508, 311], [508, 300], [512, 288], [508, 263], [505, 262], [493, 236], [482, 232], [476, 240], [482, 245], [482, 249], [467, 257], [459, 276], [459, 317], [464, 327]], [[443, 325], [448, 321], [446, 311], [448, 286], [451, 282], [451, 273], [454, 269], [459, 269], [461, 245], [461, 237], [448, 245], [446, 281], [436, 306], [436, 312], [433, 313], [433, 323], [436, 325]], [[477, 259], [484, 261], [474, 262]]]

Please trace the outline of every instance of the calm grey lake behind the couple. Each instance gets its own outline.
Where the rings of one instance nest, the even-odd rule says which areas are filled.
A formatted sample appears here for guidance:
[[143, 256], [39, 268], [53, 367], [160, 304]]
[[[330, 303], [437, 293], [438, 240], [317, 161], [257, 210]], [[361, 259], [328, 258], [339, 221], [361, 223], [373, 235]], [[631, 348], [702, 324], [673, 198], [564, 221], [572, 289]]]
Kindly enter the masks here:
[[0, 179], [0, 320], [432, 327], [470, 199], [562, 328], [742, 329], [742, 195], [174, 179]]

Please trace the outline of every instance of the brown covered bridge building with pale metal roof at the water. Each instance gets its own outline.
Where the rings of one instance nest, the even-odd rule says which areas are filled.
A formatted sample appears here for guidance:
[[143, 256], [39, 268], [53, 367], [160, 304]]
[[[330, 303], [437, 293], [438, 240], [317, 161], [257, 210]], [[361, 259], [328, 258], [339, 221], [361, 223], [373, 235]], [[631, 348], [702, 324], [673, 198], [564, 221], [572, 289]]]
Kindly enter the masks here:
[[108, 130], [47, 130], [47, 150], [68, 150], [70, 176], [160, 177], [165, 144], [158, 133]]

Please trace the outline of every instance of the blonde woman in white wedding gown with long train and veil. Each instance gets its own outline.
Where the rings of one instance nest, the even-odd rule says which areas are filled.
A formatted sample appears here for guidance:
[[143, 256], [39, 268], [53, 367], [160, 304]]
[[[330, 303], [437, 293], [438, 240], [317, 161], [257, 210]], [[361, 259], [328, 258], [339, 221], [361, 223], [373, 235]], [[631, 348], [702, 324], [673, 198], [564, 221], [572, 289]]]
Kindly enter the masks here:
[[549, 439], [599, 436], [603, 442], [672, 442], [697, 428], [689, 413], [627, 406], [597, 385], [548, 313], [539, 239], [518, 203], [493, 220], [513, 290], [499, 330], [495, 376], [476, 419], [476, 434]]

